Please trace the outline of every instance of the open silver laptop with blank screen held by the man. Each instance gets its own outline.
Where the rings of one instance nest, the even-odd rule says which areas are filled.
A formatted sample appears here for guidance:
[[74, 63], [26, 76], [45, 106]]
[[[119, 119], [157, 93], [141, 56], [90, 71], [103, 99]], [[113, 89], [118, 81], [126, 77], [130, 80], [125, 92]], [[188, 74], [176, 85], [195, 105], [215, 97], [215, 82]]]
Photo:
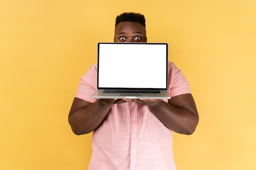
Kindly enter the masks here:
[[170, 99], [167, 43], [98, 43], [97, 99]]

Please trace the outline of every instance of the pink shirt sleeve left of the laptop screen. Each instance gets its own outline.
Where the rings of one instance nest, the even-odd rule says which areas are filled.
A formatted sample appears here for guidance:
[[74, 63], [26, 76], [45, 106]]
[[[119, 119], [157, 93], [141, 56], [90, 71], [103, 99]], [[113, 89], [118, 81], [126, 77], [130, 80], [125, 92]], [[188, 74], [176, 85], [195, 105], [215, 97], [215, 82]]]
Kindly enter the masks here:
[[90, 69], [81, 77], [75, 97], [94, 103], [96, 99], [92, 94], [97, 89], [97, 63], [90, 66]]

